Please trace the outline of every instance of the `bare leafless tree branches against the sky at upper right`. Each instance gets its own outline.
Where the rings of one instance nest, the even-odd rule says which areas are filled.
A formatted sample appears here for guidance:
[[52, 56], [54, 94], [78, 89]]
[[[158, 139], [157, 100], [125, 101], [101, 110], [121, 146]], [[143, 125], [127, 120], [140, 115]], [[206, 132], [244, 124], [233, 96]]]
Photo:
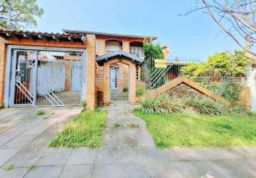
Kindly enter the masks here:
[[[205, 9], [213, 21], [230, 36], [244, 51], [256, 58], [256, 1], [255, 0], [196, 0], [197, 8], [187, 12]], [[241, 41], [242, 39], [242, 41]], [[244, 41], [252, 44], [244, 45]], [[252, 47], [252, 48], [251, 48]]]

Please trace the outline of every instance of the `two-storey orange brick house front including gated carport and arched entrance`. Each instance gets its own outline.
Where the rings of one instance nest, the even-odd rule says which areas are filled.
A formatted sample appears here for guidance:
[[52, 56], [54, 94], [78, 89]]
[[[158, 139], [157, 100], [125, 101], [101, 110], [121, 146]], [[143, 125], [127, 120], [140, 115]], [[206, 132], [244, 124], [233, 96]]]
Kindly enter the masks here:
[[145, 39], [156, 37], [1, 29], [0, 105], [134, 104]]

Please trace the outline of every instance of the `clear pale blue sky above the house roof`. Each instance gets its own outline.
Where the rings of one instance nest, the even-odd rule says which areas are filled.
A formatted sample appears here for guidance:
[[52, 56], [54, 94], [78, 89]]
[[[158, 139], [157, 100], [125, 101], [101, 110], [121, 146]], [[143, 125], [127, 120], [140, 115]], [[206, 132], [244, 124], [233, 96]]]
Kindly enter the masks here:
[[195, 12], [195, 0], [38, 0], [44, 15], [34, 31], [61, 29], [102, 31], [158, 36], [157, 42], [171, 48], [170, 58], [204, 61], [216, 51], [233, 51], [237, 46], [220, 31], [210, 16]]

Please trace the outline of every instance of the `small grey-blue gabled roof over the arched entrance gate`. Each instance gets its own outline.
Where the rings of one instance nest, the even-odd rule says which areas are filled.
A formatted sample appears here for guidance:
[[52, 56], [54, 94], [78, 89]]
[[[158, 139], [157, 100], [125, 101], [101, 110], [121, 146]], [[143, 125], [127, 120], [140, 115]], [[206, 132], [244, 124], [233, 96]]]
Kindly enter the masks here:
[[114, 58], [116, 56], [129, 58], [130, 60], [134, 61], [135, 63], [139, 63], [139, 64], [142, 64], [144, 62], [144, 59], [138, 58], [137, 56], [135, 56], [131, 53], [126, 53], [124, 51], [115, 51], [112, 53], [104, 54], [102, 56], [98, 56], [97, 63], [103, 63], [104, 61], [107, 61], [109, 58]]

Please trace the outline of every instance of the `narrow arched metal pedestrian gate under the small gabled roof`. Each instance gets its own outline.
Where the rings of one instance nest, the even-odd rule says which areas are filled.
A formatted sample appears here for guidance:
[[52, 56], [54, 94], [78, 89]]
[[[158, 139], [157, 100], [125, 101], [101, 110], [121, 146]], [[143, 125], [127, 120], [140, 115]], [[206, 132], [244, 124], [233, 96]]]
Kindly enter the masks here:
[[123, 63], [110, 66], [110, 101], [129, 100], [129, 67]]

